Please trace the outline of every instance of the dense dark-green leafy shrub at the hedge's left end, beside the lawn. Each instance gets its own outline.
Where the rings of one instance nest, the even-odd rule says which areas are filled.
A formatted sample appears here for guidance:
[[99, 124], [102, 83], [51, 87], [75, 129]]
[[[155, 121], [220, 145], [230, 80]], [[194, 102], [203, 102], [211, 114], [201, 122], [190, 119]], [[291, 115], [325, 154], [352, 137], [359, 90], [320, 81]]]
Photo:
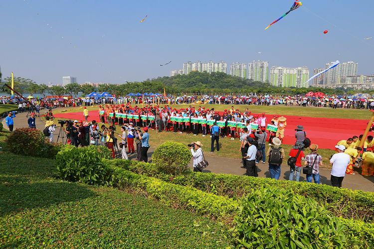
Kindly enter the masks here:
[[67, 181], [108, 185], [110, 172], [102, 159], [110, 155], [111, 151], [104, 146], [65, 145], [56, 155], [57, 172]]

